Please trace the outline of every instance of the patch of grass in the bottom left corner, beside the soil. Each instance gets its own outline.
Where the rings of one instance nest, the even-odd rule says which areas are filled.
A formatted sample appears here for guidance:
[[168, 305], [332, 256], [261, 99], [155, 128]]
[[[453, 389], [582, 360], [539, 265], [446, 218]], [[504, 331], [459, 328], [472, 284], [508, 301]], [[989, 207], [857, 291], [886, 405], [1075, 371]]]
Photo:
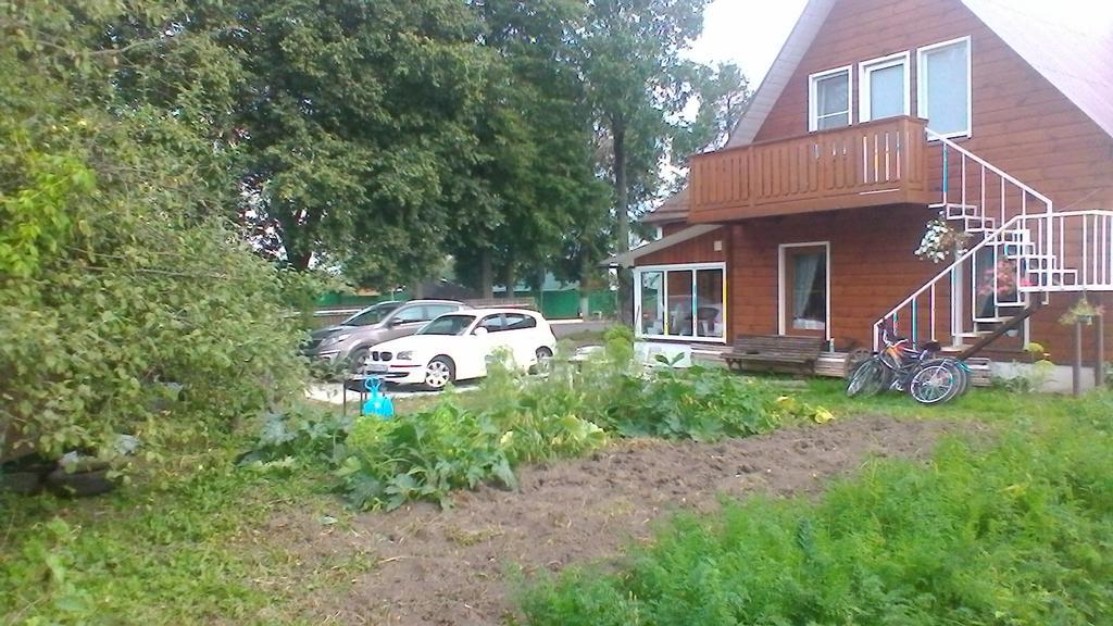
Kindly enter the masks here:
[[234, 469], [244, 444], [100, 498], [0, 496], [0, 624], [292, 623], [284, 609], [304, 590], [290, 574], [338, 581], [355, 564], [297, 563], [262, 525], [286, 508], [342, 507], [319, 475]]

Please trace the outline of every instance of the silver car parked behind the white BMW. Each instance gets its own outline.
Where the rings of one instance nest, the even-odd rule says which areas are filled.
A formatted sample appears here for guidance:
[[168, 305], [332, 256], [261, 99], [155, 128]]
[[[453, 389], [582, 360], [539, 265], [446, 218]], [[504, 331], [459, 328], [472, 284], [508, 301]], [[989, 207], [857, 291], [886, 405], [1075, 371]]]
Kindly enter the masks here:
[[467, 305], [454, 300], [381, 302], [335, 326], [313, 331], [303, 353], [312, 359], [343, 362], [351, 371], [357, 371], [376, 343], [412, 335], [430, 320], [463, 309]]

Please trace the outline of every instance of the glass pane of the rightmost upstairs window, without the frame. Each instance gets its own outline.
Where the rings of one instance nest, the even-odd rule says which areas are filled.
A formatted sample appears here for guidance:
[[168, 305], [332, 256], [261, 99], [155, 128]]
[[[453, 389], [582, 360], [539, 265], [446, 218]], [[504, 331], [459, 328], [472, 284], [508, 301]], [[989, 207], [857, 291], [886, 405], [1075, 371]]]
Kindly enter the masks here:
[[966, 42], [932, 50], [924, 56], [927, 80], [927, 125], [940, 134], [968, 128]]

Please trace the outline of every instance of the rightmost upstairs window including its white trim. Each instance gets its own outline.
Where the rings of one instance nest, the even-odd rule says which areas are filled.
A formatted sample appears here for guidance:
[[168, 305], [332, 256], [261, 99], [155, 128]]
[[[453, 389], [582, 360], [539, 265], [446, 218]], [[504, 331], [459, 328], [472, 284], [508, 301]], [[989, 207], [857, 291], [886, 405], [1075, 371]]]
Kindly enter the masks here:
[[945, 137], [971, 134], [971, 38], [920, 48], [917, 109], [927, 127]]

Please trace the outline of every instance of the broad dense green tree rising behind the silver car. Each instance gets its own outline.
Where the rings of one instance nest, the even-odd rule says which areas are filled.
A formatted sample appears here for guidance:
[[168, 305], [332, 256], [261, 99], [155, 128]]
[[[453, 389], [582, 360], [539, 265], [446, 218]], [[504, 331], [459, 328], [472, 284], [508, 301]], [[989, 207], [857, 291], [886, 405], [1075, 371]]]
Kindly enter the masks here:
[[296, 268], [424, 277], [486, 222], [471, 179], [492, 59], [455, 0], [240, 0], [245, 214]]

